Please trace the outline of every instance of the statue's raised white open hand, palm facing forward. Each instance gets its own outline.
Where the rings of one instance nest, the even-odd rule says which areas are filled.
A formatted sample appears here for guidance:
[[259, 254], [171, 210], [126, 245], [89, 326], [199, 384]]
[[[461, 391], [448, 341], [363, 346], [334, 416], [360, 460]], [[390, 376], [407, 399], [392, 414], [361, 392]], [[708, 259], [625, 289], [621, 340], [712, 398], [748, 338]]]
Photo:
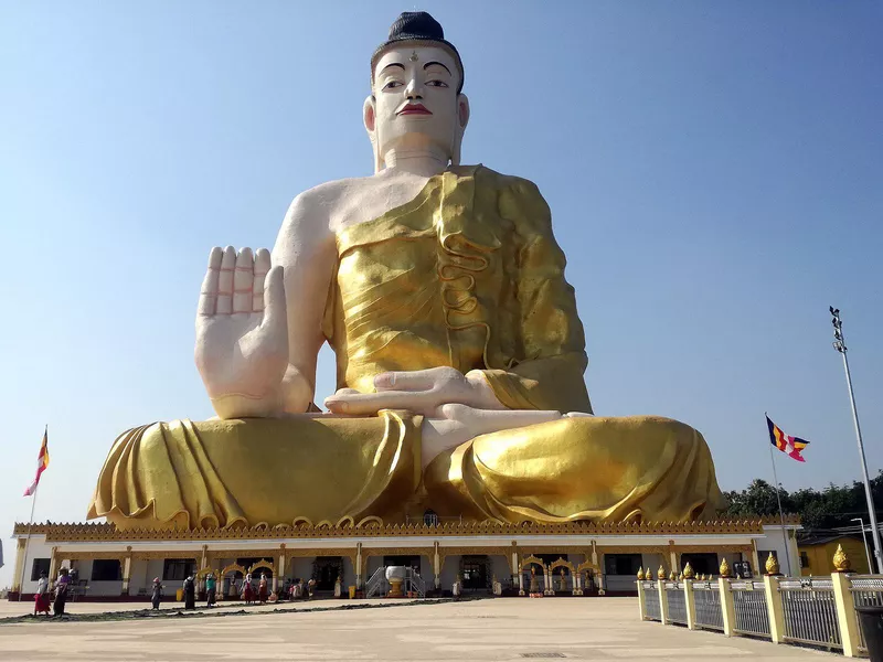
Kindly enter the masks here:
[[212, 248], [196, 313], [196, 367], [221, 418], [281, 413], [288, 366], [283, 268], [269, 252]]

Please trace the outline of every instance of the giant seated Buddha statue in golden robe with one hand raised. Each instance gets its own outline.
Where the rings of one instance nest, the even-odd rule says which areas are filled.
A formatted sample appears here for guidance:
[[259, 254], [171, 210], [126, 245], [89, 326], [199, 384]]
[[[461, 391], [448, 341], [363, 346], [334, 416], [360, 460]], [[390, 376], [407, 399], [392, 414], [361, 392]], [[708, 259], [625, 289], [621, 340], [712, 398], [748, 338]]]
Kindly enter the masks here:
[[[593, 416], [549, 206], [526, 180], [460, 164], [462, 87], [442, 26], [403, 13], [371, 57], [374, 174], [298, 195], [273, 253], [211, 250], [195, 361], [217, 418], [124, 433], [89, 517], [131, 528], [427, 509], [503, 522], [716, 512], [696, 430]], [[338, 391], [321, 413], [326, 342]]]

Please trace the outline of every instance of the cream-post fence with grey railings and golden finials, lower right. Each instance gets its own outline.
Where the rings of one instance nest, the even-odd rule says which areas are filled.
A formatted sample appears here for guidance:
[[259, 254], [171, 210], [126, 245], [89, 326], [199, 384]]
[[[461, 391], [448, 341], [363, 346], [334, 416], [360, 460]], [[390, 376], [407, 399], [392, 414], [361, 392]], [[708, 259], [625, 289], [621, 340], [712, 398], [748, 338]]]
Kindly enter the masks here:
[[883, 575], [836, 573], [830, 577], [781, 577], [763, 581], [638, 580], [645, 620], [866, 654], [857, 607], [883, 607]]

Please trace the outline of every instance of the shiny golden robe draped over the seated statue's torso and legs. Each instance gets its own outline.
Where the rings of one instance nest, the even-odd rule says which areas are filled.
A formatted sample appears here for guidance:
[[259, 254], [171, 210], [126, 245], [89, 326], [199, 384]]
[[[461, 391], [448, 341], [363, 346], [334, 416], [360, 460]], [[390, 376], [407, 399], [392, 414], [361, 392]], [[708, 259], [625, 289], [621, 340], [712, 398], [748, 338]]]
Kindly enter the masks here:
[[[536, 186], [483, 167], [339, 233], [322, 330], [338, 386], [448, 365], [512, 409], [591, 413], [564, 254]], [[421, 471], [419, 416], [189, 420], [128, 430], [89, 517], [120, 527], [397, 520], [684, 521], [721, 492], [702, 436], [656, 417], [562, 418], [479, 436]]]

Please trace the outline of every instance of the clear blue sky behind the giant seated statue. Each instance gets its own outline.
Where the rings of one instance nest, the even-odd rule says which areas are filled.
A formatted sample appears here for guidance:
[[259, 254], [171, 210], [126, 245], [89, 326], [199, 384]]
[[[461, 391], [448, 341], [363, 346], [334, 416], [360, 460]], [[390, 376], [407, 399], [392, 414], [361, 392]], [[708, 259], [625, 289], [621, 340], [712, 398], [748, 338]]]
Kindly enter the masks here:
[[[272, 247], [291, 199], [370, 174], [369, 57], [427, 9], [466, 63], [464, 162], [535, 181], [600, 415], [690, 423], [723, 489], [859, 477], [828, 306], [883, 466], [883, 6], [0, 3], [0, 534], [83, 521], [114, 438], [212, 415], [193, 366], [209, 249]], [[328, 353], [318, 391], [333, 387]], [[254, 457], [255, 480], [274, 480]]]

